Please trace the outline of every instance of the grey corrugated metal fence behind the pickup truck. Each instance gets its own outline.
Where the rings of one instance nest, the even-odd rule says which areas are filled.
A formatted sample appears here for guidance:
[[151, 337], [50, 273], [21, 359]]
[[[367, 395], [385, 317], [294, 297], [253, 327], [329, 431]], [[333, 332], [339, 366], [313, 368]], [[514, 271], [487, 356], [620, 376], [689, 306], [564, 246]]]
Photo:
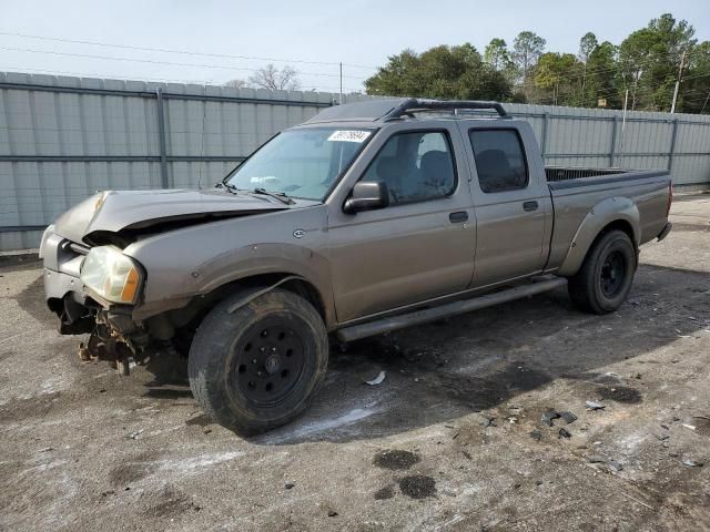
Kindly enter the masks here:
[[[335, 94], [0, 73], [0, 250], [97, 190], [211, 186]], [[348, 95], [348, 102], [366, 99]], [[670, 168], [710, 184], [710, 116], [510, 104], [547, 164]]]

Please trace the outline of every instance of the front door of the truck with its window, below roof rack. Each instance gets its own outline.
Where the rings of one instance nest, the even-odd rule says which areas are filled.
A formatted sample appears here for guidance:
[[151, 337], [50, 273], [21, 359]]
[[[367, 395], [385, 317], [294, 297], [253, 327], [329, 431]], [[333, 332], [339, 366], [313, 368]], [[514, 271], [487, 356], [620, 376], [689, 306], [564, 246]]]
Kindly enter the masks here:
[[[473, 277], [475, 221], [464, 143], [453, 123], [402, 123], [373, 140], [328, 200], [338, 321], [464, 290]], [[386, 208], [346, 214], [358, 181], [384, 181]]]

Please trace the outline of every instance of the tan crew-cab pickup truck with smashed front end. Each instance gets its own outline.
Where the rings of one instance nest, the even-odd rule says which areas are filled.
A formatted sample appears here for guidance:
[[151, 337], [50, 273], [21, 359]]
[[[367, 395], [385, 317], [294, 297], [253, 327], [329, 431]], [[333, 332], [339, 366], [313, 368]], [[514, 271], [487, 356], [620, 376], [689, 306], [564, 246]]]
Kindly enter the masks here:
[[671, 200], [667, 172], [545, 167], [496, 102], [337, 105], [214, 188], [102, 192], [63, 214], [42, 237], [47, 303], [119, 372], [186, 356], [200, 406], [255, 433], [306, 408], [329, 341], [565, 285], [616, 310]]

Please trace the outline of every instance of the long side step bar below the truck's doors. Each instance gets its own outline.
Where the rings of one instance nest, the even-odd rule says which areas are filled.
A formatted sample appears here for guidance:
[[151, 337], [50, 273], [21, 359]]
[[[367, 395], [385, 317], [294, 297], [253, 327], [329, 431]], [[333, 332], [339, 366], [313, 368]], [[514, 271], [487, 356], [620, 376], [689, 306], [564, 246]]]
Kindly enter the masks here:
[[520, 299], [521, 297], [534, 296], [566, 285], [567, 279], [564, 277], [538, 280], [529, 285], [516, 286], [515, 288], [508, 288], [507, 290], [496, 291], [495, 294], [488, 294], [486, 296], [447, 303], [433, 308], [415, 310], [413, 313], [392, 316], [376, 321], [344, 327], [336, 332], [336, 336], [341, 341], [358, 340], [368, 336], [382, 335], [383, 332], [404, 329], [405, 327], [410, 327], [413, 325], [426, 324], [428, 321], [448, 318], [458, 314], [478, 310], [479, 308], [491, 307], [500, 303], [513, 301], [515, 299]]

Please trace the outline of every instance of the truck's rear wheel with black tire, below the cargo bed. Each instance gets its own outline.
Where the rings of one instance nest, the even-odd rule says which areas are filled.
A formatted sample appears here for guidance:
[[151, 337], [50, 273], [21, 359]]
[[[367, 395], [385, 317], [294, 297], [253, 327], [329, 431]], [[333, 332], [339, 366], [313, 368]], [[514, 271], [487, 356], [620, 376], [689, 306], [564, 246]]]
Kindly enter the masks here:
[[569, 296], [581, 310], [612, 313], [628, 296], [636, 266], [629, 236], [618, 229], [605, 233], [587, 252], [579, 272], [569, 278]]

